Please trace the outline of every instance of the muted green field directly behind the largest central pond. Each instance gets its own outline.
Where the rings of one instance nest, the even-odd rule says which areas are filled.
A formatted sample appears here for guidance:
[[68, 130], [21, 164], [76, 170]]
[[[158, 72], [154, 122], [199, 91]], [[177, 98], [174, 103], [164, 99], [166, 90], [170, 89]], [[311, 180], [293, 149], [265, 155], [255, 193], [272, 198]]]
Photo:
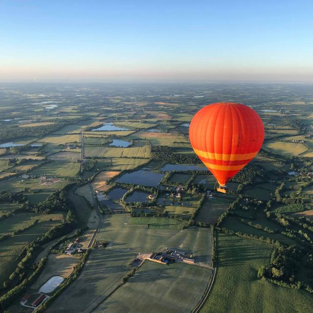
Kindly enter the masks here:
[[123, 171], [123, 170], [132, 170], [135, 167], [145, 163], [147, 163], [147, 159], [143, 158], [140, 159], [140, 158], [112, 157], [108, 158], [107, 160], [97, 159], [95, 167], [110, 171]]

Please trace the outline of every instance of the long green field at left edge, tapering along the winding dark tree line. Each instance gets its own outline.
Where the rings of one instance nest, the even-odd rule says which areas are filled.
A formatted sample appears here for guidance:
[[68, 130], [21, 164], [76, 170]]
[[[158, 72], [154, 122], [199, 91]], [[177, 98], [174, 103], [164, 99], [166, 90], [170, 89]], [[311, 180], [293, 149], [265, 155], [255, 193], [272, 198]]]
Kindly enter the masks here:
[[[50, 221], [52, 219], [52, 221]], [[42, 221], [38, 224], [22, 231], [22, 233], [7, 238], [0, 242], [0, 284], [15, 270], [17, 263], [16, 258], [22, 252], [24, 247], [42, 236], [50, 227], [59, 224], [63, 219], [62, 214], [42, 215]], [[4, 222], [5, 220], [3, 220]], [[8, 229], [8, 227], [6, 227]]]

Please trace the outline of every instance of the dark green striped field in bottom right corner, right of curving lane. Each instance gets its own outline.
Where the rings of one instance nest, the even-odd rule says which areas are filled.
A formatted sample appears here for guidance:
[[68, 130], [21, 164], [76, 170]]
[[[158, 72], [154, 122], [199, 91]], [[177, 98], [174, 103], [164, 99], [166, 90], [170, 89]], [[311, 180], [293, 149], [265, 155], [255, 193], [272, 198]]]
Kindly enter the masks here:
[[218, 268], [201, 313], [311, 312], [307, 291], [283, 288], [257, 278], [269, 262], [273, 246], [256, 240], [218, 234]]

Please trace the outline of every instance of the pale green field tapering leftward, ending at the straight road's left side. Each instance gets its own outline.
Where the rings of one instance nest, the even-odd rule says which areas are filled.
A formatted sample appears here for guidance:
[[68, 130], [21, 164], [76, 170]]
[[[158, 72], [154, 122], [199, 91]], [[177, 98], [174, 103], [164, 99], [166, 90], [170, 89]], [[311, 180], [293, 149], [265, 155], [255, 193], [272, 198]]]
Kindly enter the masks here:
[[[60, 152], [63, 153], [63, 152]], [[70, 153], [70, 152], [64, 152]], [[76, 155], [76, 154], [75, 154]], [[56, 155], [52, 155], [52, 157], [58, 157]], [[79, 158], [79, 155], [77, 155]], [[79, 172], [80, 164], [67, 159], [55, 159], [52, 162], [46, 163], [36, 169], [31, 170], [29, 175], [45, 175], [59, 178], [68, 178], [74, 177]]]

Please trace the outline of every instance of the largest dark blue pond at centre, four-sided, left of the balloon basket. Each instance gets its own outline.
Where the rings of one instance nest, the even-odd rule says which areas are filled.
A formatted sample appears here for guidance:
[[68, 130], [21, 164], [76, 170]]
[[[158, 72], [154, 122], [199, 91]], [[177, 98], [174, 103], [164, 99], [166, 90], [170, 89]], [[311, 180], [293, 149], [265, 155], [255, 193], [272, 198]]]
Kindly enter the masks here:
[[163, 177], [164, 174], [162, 173], [138, 170], [133, 173], [126, 173], [118, 178], [116, 181], [128, 184], [156, 187]]

